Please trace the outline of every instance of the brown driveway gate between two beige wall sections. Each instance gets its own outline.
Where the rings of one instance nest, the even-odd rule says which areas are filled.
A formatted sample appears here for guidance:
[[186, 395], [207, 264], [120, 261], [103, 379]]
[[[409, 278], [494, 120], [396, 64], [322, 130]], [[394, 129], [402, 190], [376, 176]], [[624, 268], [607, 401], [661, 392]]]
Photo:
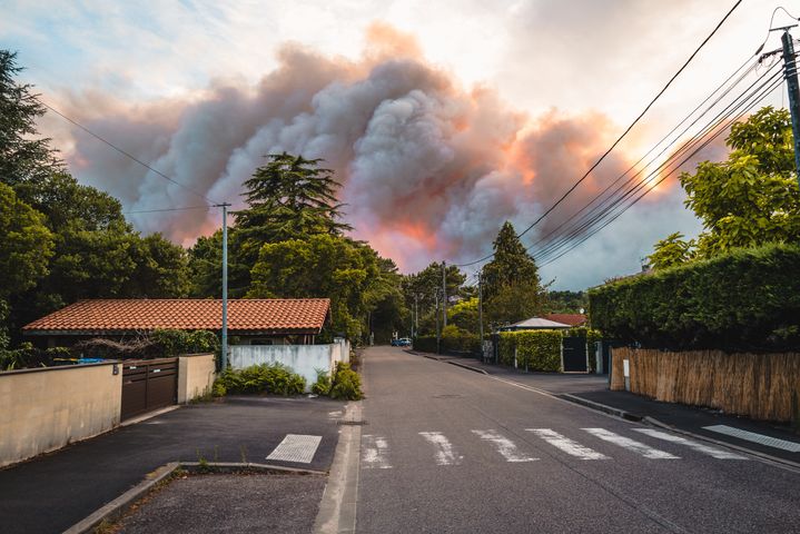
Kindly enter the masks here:
[[121, 419], [174, 405], [178, 399], [178, 358], [122, 364]]

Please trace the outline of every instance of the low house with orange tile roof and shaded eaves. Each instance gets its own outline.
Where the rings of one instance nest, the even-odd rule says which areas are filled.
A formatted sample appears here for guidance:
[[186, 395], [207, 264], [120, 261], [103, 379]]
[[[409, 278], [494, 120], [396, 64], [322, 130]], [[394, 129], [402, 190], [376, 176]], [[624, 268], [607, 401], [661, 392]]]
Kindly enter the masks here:
[[[329, 319], [327, 298], [228, 300], [228, 335], [243, 345], [313, 344]], [[39, 346], [71, 346], [92, 337], [124, 339], [156, 329], [220, 332], [219, 299], [80, 300], [22, 328]]]

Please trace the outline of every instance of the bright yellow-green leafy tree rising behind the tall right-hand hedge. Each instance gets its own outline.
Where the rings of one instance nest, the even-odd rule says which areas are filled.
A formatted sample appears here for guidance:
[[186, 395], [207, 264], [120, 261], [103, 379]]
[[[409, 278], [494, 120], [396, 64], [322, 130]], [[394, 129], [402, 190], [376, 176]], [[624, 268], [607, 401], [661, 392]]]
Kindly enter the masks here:
[[731, 128], [727, 161], [703, 161], [694, 174], [681, 174], [685, 205], [704, 230], [697, 243], [674, 234], [659, 241], [651, 256], [656, 268], [739, 247], [798, 241], [800, 189], [792, 140], [789, 112], [766, 107]]

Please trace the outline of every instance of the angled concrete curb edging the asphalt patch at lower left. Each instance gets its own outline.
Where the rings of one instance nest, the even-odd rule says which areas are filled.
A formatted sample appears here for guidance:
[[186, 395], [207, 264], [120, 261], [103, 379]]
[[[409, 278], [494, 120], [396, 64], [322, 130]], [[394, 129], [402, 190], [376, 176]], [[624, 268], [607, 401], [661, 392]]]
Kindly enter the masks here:
[[70, 526], [63, 534], [91, 534], [95, 528], [106, 521], [117, 521], [121, 517], [130, 506], [150, 493], [159, 483], [168, 479], [177, 469], [186, 469], [192, 473], [234, 473], [237, 471], [261, 471], [265, 473], [284, 473], [295, 475], [322, 475], [326, 476], [324, 471], [300, 469], [296, 467], [284, 467], [280, 465], [253, 464], [238, 462], [170, 462], [149, 473], [142, 482], [125, 492], [110, 503], [96, 510], [87, 517]]

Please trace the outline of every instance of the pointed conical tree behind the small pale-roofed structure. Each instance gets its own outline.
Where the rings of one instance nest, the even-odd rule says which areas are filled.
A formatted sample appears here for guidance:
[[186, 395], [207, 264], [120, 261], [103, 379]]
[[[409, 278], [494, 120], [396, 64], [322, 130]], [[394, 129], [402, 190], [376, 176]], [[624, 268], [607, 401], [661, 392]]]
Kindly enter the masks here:
[[483, 267], [484, 300], [491, 323], [526, 319], [544, 309], [545, 296], [539, 268], [511, 222], [494, 240], [494, 258]]

